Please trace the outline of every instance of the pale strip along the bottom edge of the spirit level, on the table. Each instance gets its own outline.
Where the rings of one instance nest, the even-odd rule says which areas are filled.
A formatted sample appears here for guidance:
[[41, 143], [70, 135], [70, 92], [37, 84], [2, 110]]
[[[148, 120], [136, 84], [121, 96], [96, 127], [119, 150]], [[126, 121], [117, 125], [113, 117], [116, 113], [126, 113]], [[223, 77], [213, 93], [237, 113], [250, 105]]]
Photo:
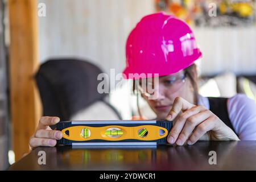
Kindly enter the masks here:
[[156, 142], [87, 142], [72, 143], [72, 146], [151, 146]]

